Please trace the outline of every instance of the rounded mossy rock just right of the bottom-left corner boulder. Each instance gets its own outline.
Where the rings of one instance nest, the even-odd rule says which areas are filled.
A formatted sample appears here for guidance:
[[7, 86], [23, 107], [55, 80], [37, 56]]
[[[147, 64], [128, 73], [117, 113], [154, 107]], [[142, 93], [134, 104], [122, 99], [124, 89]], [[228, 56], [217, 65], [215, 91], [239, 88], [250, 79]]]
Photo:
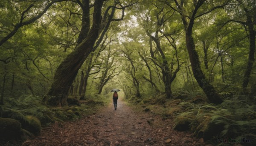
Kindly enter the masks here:
[[27, 115], [26, 118], [29, 120], [29, 124], [24, 126], [23, 129], [28, 130], [29, 132], [38, 135], [41, 132], [41, 122], [37, 117]]

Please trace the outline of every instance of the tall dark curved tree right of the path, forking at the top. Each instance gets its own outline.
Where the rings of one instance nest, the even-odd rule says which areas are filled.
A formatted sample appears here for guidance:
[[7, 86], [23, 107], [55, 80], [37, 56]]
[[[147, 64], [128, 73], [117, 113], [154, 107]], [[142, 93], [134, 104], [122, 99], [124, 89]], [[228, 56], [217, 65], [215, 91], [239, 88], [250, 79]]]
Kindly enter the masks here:
[[[174, 1], [175, 1], [176, 6], [172, 6], [172, 4], [170, 4], [170, 3], [168, 3], [168, 5], [172, 9], [177, 11], [180, 14], [180, 17], [182, 19], [185, 34], [186, 34], [186, 48], [189, 53], [189, 59], [190, 59], [194, 77], [197, 80], [199, 86], [207, 94], [209, 102], [215, 103], [215, 104], [220, 104], [223, 102], [223, 99], [221, 98], [221, 95], [218, 94], [215, 87], [209, 83], [209, 81], [207, 80], [207, 78], [205, 77], [205, 75], [201, 69], [198, 53], [195, 49], [195, 43], [194, 43], [194, 38], [193, 38], [192, 34], [193, 34], [193, 26], [195, 23], [195, 19], [203, 16], [204, 14], [208, 14], [215, 9], [223, 8], [225, 5], [228, 4], [227, 3], [228, 0], [222, 2], [221, 5], [211, 7], [209, 10], [204, 11], [201, 14], [198, 14], [198, 10], [201, 8], [201, 6], [204, 5], [204, 3], [206, 3], [206, 0], [195, 0], [193, 3], [194, 5], [192, 6], [193, 7], [192, 12], [189, 15], [186, 13], [185, 9], [187, 9], [187, 8], [185, 5], [187, 3], [185, 3], [184, 0], [180, 0], [180, 3], [177, 0], [174, 0]], [[176, 9], [176, 7], [177, 7], [177, 9]]]

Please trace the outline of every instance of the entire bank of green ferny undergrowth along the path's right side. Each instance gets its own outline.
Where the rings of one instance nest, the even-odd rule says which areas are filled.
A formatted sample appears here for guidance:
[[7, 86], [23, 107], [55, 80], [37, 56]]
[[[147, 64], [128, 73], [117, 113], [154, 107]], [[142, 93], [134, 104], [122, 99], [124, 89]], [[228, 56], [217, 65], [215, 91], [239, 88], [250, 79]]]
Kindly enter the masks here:
[[[220, 105], [207, 103], [204, 94], [186, 91], [176, 93], [171, 99], [166, 99], [165, 94], [142, 98], [132, 96], [128, 102], [140, 105], [146, 112], [161, 115], [163, 120], [171, 119], [173, 129], [190, 131], [207, 143], [256, 146], [255, 97], [224, 94], [226, 97]], [[217, 142], [218, 138], [221, 138], [221, 143]]]

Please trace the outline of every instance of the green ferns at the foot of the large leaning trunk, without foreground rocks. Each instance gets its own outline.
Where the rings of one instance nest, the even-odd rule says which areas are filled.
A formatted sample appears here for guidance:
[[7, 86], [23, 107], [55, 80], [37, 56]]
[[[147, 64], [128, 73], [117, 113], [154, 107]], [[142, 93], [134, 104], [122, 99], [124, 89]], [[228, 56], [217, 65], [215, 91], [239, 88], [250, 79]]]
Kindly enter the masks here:
[[[44, 106], [41, 104], [41, 97], [33, 95], [21, 96], [18, 99], [9, 98], [5, 106], [9, 108], [1, 108], [0, 117], [9, 117], [19, 120], [23, 126], [31, 125], [32, 123], [34, 123], [32, 124], [35, 125], [35, 130], [33, 131], [37, 132], [33, 133], [38, 133], [39, 128], [36, 128], [36, 125], [46, 126], [49, 123], [54, 123], [55, 121], [62, 123], [65, 120], [73, 120], [79, 118], [83, 114], [90, 114], [87, 111], [88, 109], [93, 110], [96, 105], [105, 105], [103, 100], [104, 98], [105, 97], [97, 96], [93, 100], [90, 99], [85, 101], [86, 104], [82, 104], [81, 107], [67, 106], [64, 108], [49, 108], [47, 106]], [[93, 103], [88, 104], [91, 103], [91, 101], [93, 101]], [[39, 120], [39, 122], [37, 119]]]

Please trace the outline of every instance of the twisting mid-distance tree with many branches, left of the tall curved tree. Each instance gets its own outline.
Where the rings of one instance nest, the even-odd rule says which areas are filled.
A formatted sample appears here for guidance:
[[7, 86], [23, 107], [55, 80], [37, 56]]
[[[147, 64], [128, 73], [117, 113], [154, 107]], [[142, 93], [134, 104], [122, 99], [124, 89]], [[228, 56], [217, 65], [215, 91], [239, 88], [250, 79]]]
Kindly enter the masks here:
[[[170, 19], [174, 15], [174, 13], [170, 10], [164, 11], [165, 10], [164, 6], [162, 6], [161, 8], [157, 7], [157, 9], [159, 9], [157, 14], [151, 16], [151, 17], [156, 17], [157, 26], [153, 26], [154, 28], [156, 28], [156, 30], [154, 32], [149, 32], [149, 30], [148, 30], [148, 27], [150, 27], [150, 26], [148, 26], [148, 23], [149, 23], [148, 17], [149, 16], [146, 18], [145, 29], [146, 29], [146, 34], [148, 35], [148, 37], [150, 37], [150, 40], [152, 40], [156, 44], [156, 51], [153, 51], [152, 44], [150, 44], [151, 58], [152, 58], [152, 61], [157, 66], [159, 66], [162, 71], [162, 80], [163, 80], [163, 83], [165, 86], [166, 97], [170, 98], [170, 97], [172, 97], [171, 83], [175, 79], [177, 72], [179, 72], [179, 70], [180, 70], [180, 64], [179, 64], [179, 59], [178, 59], [178, 54], [177, 54], [177, 47], [175, 44], [177, 37], [176, 38], [172, 37], [172, 34], [175, 34], [175, 32], [179, 31], [179, 30], [169, 28], [169, 29], [173, 29], [173, 32], [163, 32], [163, 31], [166, 31], [166, 28], [164, 27], [165, 23], [167, 23], [168, 21], [171, 21]], [[151, 20], [152, 20], [152, 18], [151, 18]], [[163, 29], [163, 30], [161, 30], [161, 29]], [[159, 33], [161, 33], [163, 35], [159, 36]], [[165, 51], [163, 49], [163, 45], [161, 44], [162, 42], [164, 42], [162, 37], [165, 37], [166, 40], [168, 40], [170, 46], [173, 49], [175, 49], [175, 54], [173, 55], [172, 60], [169, 60], [166, 57], [167, 51]], [[169, 37], [172, 39], [172, 41], [170, 41]], [[152, 43], [152, 41], [150, 41], [149, 43]], [[157, 58], [155, 54], [160, 54], [159, 56], [161, 57], [161, 59]], [[175, 69], [175, 70], [174, 70], [174, 64], [175, 64], [174, 60], [176, 60], [176, 62], [177, 62], [177, 69]]]

